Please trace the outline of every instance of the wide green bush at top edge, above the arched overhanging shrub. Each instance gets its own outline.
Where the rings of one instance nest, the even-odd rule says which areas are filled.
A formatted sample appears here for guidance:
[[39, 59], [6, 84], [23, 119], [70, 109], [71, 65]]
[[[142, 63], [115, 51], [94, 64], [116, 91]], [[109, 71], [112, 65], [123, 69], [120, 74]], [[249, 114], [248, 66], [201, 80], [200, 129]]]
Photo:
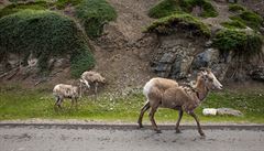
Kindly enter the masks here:
[[218, 12], [208, 0], [163, 0], [148, 11], [151, 18], [163, 18], [175, 12], [191, 12], [193, 8], [199, 6], [202, 8], [201, 17], [217, 17]]

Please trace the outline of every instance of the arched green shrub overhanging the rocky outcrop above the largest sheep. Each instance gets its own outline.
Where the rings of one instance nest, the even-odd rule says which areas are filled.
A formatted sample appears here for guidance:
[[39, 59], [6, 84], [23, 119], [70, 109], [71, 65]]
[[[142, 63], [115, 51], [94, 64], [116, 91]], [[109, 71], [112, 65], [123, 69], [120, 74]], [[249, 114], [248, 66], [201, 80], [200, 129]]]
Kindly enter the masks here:
[[174, 33], [175, 28], [190, 31], [195, 35], [205, 35], [206, 37], [210, 36], [210, 30], [208, 26], [199, 19], [187, 13], [176, 13], [166, 18], [162, 18], [147, 26], [145, 32], [172, 34]]

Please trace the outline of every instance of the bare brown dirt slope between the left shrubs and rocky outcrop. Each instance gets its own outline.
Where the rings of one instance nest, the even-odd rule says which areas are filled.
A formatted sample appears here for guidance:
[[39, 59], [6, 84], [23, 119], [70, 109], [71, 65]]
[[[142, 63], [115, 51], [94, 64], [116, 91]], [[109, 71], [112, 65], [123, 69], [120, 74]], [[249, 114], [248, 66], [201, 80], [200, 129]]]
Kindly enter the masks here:
[[143, 37], [144, 26], [153, 19], [147, 10], [157, 0], [109, 0], [118, 12], [117, 22], [105, 26], [105, 35], [94, 42], [96, 71], [108, 79], [109, 90], [142, 86], [151, 76], [148, 53], [157, 43]]

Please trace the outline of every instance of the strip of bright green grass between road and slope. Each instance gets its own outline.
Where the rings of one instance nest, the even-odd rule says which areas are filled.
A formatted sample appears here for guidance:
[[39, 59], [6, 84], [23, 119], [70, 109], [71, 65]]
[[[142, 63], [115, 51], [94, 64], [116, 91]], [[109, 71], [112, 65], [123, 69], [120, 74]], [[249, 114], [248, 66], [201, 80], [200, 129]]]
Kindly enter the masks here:
[[[196, 114], [205, 122], [260, 122], [264, 123], [264, 95], [263, 93], [212, 93], [196, 109]], [[0, 95], [0, 120], [9, 119], [88, 119], [105, 121], [129, 121], [136, 122], [140, 109], [144, 105], [145, 98], [142, 94], [131, 94], [129, 96], [113, 97], [102, 95], [97, 100], [90, 97], [78, 101], [78, 107], [70, 107], [70, 101], [65, 100], [63, 109], [54, 109], [55, 99], [51, 93], [40, 93], [37, 90], [4, 90]], [[204, 108], [233, 108], [242, 111], [242, 117], [231, 116], [204, 116]], [[177, 111], [172, 109], [158, 109], [155, 119], [161, 122], [175, 122]], [[187, 114], [183, 118], [185, 121], [194, 121]], [[148, 122], [147, 112], [144, 122]]]

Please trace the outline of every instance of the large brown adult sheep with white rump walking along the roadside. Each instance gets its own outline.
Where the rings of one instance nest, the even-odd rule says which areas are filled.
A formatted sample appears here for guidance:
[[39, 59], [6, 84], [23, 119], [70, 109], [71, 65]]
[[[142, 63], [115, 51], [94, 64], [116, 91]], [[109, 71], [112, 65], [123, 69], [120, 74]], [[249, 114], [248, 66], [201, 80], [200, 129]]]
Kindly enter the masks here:
[[200, 136], [205, 136], [194, 111], [207, 97], [209, 90], [215, 88], [222, 89], [222, 85], [209, 68], [204, 69], [198, 74], [194, 87], [178, 86], [176, 82], [165, 78], [152, 78], [143, 88], [143, 94], [147, 100], [141, 109], [138, 123], [140, 128], [143, 127], [142, 118], [144, 112], [151, 108], [148, 112], [151, 123], [156, 132], [161, 132], [154, 120], [154, 115], [158, 107], [170, 108], [178, 110], [179, 112], [175, 128], [176, 132], [179, 133], [180, 131], [178, 127], [185, 110], [188, 115], [195, 118]]

